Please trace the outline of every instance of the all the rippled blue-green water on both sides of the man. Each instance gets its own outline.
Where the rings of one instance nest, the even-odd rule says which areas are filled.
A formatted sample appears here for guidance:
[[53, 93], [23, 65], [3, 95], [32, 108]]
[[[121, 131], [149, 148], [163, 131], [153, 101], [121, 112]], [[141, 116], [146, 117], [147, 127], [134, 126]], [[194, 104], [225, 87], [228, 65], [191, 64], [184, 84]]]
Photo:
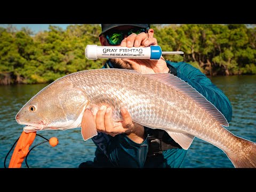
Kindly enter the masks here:
[[[233, 118], [227, 129], [235, 135], [256, 142], [256, 76], [212, 77], [217, 85], [230, 99], [233, 107]], [[4, 159], [15, 140], [22, 132], [22, 125], [15, 121], [20, 108], [47, 84], [0, 86], [0, 167], [4, 167]], [[49, 143], [37, 146], [27, 158], [29, 167], [58, 168], [78, 167], [81, 162], [93, 161], [95, 146], [92, 140], [84, 141], [81, 130], [51, 130], [37, 132], [50, 139], [57, 137], [59, 145], [51, 147]], [[36, 137], [33, 145], [44, 141]], [[9, 165], [12, 152], [6, 159]], [[22, 167], [27, 167], [25, 161]], [[195, 138], [183, 167], [234, 167], [226, 154], [210, 143]]]

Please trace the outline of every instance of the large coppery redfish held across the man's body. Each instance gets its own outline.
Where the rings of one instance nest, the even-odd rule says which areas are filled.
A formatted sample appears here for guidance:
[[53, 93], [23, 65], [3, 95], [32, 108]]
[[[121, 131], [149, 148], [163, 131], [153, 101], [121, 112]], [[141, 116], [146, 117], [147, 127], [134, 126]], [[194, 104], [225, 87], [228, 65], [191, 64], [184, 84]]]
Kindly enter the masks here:
[[[114, 121], [121, 107], [134, 122], [165, 130], [183, 149], [194, 137], [223, 150], [235, 167], [256, 167], [256, 143], [229, 132], [226, 118], [202, 94], [165, 73], [141, 74], [127, 69], [94, 69], [61, 77], [44, 87], [16, 116], [25, 132], [81, 127], [85, 109], [110, 106]], [[91, 110], [83, 139], [97, 135]]]

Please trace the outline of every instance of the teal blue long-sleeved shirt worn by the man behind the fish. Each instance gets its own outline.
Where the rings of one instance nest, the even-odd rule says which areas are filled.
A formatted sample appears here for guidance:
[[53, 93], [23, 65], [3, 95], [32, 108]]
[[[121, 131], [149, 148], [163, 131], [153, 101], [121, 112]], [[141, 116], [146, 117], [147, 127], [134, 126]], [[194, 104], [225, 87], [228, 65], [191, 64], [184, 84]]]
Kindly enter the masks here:
[[[232, 108], [229, 99], [205, 74], [186, 62], [166, 61], [166, 65], [170, 68], [173, 75], [194, 87], [221, 111], [228, 122], [231, 121]], [[113, 68], [113, 66], [107, 61], [102, 68]], [[87, 161], [80, 164], [79, 167], [182, 167], [187, 150], [181, 148], [168, 149], [163, 151], [163, 154], [147, 157], [147, 139], [150, 134], [150, 129], [146, 127], [146, 139], [138, 144], [129, 139], [125, 134], [111, 137], [105, 133], [98, 133], [97, 136], [92, 138], [97, 146], [94, 161]], [[166, 132], [164, 137], [167, 140], [172, 140]]]

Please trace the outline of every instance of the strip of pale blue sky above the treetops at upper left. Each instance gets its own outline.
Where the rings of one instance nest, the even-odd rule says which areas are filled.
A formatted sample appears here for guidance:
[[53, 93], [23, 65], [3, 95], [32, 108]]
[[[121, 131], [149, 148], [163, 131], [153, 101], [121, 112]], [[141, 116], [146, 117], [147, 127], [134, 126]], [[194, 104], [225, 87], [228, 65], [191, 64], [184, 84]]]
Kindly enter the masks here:
[[[71, 24], [11, 24], [11, 25], [15, 26], [18, 30], [20, 30], [22, 27], [28, 27], [36, 34], [39, 31], [48, 30], [49, 25], [59, 26], [62, 29], [66, 29], [67, 26]], [[0, 27], [7, 27], [7, 26], [8, 24], [0, 24]]]

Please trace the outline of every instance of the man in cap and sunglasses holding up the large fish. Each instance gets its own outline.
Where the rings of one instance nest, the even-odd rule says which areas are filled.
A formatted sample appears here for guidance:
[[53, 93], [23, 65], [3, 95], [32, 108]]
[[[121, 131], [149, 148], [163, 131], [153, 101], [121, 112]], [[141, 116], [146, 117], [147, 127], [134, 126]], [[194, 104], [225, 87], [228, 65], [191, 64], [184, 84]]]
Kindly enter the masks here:
[[[149, 24], [102, 24], [99, 40], [102, 46], [139, 47], [157, 45]], [[143, 74], [171, 73], [213, 103], [227, 121], [231, 121], [230, 101], [209, 78], [185, 62], [170, 62], [163, 57], [148, 59], [109, 59], [103, 68], [135, 69]], [[171, 99], [171, 98], [170, 98]], [[132, 122], [126, 109], [121, 109], [122, 122], [113, 122], [111, 108], [93, 108], [98, 135], [94, 161], [79, 167], [181, 167], [187, 150], [182, 149], [165, 131], [149, 129]], [[86, 122], [83, 117], [82, 124]]]

